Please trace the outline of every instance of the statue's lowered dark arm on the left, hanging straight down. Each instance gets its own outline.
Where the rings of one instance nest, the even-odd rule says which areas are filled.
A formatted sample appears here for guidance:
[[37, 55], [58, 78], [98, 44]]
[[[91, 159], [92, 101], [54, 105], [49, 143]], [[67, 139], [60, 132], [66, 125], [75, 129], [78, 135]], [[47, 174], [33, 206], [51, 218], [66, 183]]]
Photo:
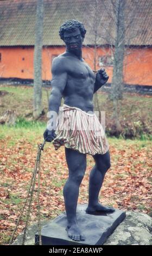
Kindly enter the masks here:
[[47, 129], [43, 134], [46, 141], [51, 142], [55, 136], [55, 127], [59, 107], [61, 105], [62, 93], [64, 92], [67, 83], [67, 71], [65, 59], [63, 57], [56, 57], [52, 62], [52, 91], [49, 97], [49, 113], [47, 117], [50, 118], [47, 124]]

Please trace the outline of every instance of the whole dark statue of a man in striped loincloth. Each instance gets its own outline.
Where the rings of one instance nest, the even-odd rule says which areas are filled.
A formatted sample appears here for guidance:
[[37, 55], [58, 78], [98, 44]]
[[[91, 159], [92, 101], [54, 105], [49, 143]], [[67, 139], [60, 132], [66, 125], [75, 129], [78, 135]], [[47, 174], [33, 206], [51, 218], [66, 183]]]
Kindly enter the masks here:
[[[86, 29], [75, 20], [68, 20], [60, 27], [60, 38], [66, 44], [66, 51], [53, 59], [52, 92], [49, 99], [50, 114], [58, 114], [57, 129], [46, 129], [44, 138], [52, 142], [55, 149], [65, 145], [69, 176], [64, 186], [64, 200], [67, 215], [67, 234], [74, 241], [84, 241], [77, 222], [79, 186], [86, 170], [86, 154], [93, 156], [95, 165], [90, 173], [89, 199], [86, 212], [112, 212], [113, 208], [99, 203], [99, 192], [105, 173], [110, 168], [109, 146], [102, 125], [93, 112], [93, 94], [109, 78], [104, 69], [97, 74], [82, 57], [82, 46]], [[59, 111], [64, 98], [62, 111]], [[60, 114], [59, 114], [60, 113]], [[60, 118], [59, 118], [60, 117]], [[57, 119], [53, 122], [56, 124]], [[68, 129], [65, 122], [68, 121]], [[78, 129], [79, 127], [80, 129]], [[82, 128], [83, 127], [83, 128]], [[85, 129], [84, 129], [85, 128]], [[98, 130], [98, 134], [97, 134]]]

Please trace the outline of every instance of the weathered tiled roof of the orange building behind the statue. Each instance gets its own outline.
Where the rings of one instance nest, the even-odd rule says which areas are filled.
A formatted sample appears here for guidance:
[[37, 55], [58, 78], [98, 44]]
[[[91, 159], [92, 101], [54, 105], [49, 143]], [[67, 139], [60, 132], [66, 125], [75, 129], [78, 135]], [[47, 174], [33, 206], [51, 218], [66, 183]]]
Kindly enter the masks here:
[[[125, 2], [125, 44], [152, 45], [152, 1]], [[34, 45], [35, 19], [36, 0], [0, 0], [0, 46]], [[111, 0], [44, 0], [43, 45], [64, 45], [58, 31], [68, 19], [84, 23], [85, 45], [94, 44], [94, 27], [97, 44], [114, 44], [115, 14]]]

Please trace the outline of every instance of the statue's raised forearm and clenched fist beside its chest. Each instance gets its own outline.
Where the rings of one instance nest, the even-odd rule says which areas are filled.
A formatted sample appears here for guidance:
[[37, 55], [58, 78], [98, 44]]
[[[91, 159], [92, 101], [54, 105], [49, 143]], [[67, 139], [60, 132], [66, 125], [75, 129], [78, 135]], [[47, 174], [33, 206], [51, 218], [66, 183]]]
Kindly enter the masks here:
[[109, 76], [106, 74], [105, 69], [99, 69], [96, 74], [96, 80], [94, 82], [94, 92], [96, 93], [97, 90], [102, 87], [107, 80], [109, 79]]

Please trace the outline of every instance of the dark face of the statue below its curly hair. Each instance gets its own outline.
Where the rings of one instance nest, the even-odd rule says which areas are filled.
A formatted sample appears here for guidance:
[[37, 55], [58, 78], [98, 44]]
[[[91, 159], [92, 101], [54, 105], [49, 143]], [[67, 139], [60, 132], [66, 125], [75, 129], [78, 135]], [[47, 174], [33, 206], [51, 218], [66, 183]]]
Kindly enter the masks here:
[[77, 51], [83, 46], [84, 38], [81, 36], [80, 29], [75, 29], [74, 32], [64, 32], [64, 42], [68, 51]]

